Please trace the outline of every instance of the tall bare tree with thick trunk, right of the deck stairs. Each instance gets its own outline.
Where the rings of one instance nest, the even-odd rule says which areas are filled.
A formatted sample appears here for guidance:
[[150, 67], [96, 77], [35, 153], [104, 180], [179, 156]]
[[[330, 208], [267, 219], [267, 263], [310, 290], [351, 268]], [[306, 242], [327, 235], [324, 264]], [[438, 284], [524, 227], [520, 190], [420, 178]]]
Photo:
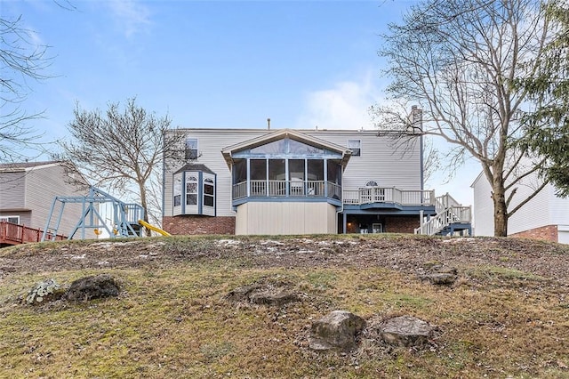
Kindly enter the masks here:
[[[508, 234], [509, 217], [545, 186], [509, 209], [519, 181], [541, 165], [527, 165], [525, 149], [515, 148], [522, 135], [519, 115], [533, 103], [513, 84], [533, 74], [548, 32], [539, 1], [429, 0], [383, 36], [380, 54], [393, 78], [389, 94], [419, 103], [421, 133], [452, 144], [450, 165], [464, 157], [480, 162], [493, 189], [496, 236]], [[400, 109], [384, 107], [381, 113], [408, 128]]]

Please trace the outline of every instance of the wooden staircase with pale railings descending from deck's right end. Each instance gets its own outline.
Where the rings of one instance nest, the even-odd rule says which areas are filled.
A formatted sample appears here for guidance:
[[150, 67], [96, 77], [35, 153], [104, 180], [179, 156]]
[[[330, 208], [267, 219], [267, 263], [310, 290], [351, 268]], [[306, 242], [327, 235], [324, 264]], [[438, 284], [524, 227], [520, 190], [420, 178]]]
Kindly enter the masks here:
[[436, 199], [435, 210], [437, 215], [430, 217], [421, 226], [415, 229], [415, 234], [461, 235], [472, 234], [472, 207], [462, 206], [448, 193]]

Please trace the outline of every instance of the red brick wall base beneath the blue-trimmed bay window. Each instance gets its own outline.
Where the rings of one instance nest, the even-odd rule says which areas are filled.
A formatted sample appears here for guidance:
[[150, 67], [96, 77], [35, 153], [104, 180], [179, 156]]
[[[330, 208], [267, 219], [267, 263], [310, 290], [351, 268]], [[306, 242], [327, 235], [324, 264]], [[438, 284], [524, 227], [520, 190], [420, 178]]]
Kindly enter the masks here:
[[162, 229], [172, 235], [235, 234], [235, 217], [185, 215], [164, 217]]

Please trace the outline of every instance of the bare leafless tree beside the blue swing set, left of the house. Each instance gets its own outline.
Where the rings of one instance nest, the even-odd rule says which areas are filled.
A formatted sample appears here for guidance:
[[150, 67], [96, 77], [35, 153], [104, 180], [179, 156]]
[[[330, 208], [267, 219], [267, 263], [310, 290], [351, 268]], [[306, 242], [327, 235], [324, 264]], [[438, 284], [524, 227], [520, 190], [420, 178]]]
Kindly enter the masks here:
[[96, 187], [140, 202], [146, 211], [144, 221], [159, 224], [161, 186], [156, 183], [164, 157], [180, 154], [173, 150], [179, 143], [164, 140], [172, 121], [148, 113], [136, 105], [136, 99], [127, 100], [123, 110], [118, 102], [109, 103], [106, 113], [77, 104], [74, 116], [68, 124], [70, 139], [60, 141], [59, 158], [73, 162]]

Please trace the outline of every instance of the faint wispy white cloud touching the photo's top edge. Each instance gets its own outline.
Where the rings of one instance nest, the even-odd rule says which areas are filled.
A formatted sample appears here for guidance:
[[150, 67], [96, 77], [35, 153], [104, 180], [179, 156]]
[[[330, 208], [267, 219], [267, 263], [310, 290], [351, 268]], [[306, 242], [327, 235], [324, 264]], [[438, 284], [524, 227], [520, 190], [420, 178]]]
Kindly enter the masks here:
[[133, 36], [144, 31], [150, 22], [148, 7], [135, 0], [112, 0], [108, 3], [116, 23], [124, 29], [124, 35]]

